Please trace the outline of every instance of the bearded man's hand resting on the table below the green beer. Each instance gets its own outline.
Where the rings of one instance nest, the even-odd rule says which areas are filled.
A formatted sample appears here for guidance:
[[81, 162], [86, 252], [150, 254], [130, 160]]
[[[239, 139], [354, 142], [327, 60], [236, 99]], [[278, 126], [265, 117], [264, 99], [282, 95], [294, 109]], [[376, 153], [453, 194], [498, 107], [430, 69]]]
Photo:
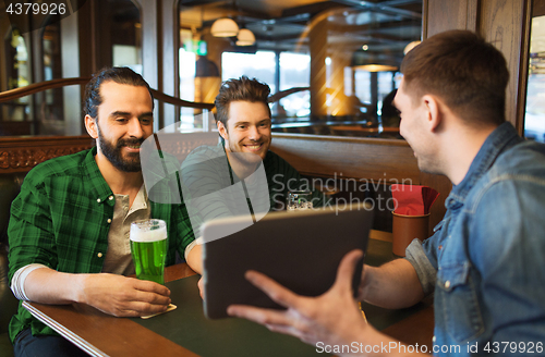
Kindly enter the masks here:
[[138, 317], [164, 312], [170, 291], [150, 281], [117, 274], [85, 274], [78, 301], [117, 317]]

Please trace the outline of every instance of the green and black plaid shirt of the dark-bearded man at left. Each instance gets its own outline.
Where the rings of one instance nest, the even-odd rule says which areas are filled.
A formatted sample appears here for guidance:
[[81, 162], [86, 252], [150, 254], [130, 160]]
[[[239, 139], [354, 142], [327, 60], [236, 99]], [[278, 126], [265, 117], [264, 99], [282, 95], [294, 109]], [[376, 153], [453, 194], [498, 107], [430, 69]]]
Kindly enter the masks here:
[[[99, 273], [108, 249], [114, 195], [95, 161], [96, 148], [48, 160], [25, 177], [11, 207], [9, 280], [22, 267], [41, 263], [68, 273]], [[154, 186], [162, 195], [178, 195], [178, 174]], [[174, 188], [172, 188], [174, 187]], [[157, 197], [157, 196], [156, 196]], [[183, 200], [182, 200], [183, 201]], [[185, 206], [149, 201], [152, 218], [167, 222], [167, 266], [183, 257], [194, 241]], [[32, 328], [33, 335], [55, 334], [21, 306], [10, 322], [10, 337]]]

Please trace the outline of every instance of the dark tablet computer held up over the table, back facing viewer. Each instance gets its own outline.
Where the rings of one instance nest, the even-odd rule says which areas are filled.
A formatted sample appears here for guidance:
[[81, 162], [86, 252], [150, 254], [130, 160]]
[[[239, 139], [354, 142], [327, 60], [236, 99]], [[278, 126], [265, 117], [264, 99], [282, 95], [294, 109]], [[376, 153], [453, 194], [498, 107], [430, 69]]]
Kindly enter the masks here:
[[[366, 250], [373, 211], [362, 204], [342, 210], [334, 206], [270, 212], [250, 226], [247, 220], [231, 217], [202, 227], [204, 311], [209, 319], [228, 317], [232, 304], [282, 308], [244, 278], [250, 269], [296, 294], [324, 294], [334, 284], [342, 257], [353, 249]], [[354, 294], [362, 266], [363, 258], [353, 276]]]

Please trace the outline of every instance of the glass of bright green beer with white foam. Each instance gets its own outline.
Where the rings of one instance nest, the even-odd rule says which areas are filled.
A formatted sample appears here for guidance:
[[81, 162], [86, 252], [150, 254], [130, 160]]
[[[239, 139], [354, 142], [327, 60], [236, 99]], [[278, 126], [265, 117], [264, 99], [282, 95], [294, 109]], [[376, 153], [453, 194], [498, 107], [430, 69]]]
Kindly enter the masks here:
[[131, 253], [136, 278], [165, 284], [167, 258], [167, 223], [141, 220], [131, 223]]

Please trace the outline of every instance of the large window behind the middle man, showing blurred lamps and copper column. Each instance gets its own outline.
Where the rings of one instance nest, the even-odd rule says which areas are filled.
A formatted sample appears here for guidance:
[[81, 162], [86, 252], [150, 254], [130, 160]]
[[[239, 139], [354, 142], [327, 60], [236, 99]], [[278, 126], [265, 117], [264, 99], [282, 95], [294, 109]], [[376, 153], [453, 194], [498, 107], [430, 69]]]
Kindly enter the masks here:
[[[422, 34], [421, 0], [387, 1], [380, 7], [351, 1], [210, 0], [184, 2], [179, 11], [180, 30], [186, 34], [180, 47], [206, 45], [202, 57], [219, 69], [221, 81], [247, 75], [267, 83], [271, 94], [293, 89], [271, 104], [272, 128], [282, 132], [334, 134], [329, 126], [352, 125], [354, 130], [346, 133], [375, 134], [382, 101], [399, 83], [393, 74], [403, 49]], [[234, 21], [229, 25], [235, 28], [231, 36], [213, 34], [213, 25], [226, 24], [226, 17]], [[252, 32], [255, 41], [241, 44], [241, 28], [244, 34]], [[183, 76], [181, 81], [191, 83]], [[214, 100], [219, 84], [215, 87], [211, 81], [195, 78], [195, 101]], [[205, 95], [199, 95], [202, 88]], [[362, 131], [361, 125], [377, 131]]]

